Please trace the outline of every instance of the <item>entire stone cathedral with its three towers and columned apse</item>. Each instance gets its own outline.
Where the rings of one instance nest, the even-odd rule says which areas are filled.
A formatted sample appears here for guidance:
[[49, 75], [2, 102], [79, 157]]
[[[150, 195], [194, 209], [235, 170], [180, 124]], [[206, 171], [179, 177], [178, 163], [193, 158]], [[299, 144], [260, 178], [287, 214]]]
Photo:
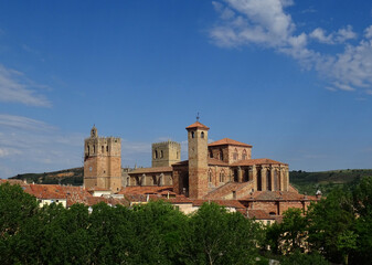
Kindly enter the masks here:
[[240, 200], [254, 192], [293, 191], [288, 165], [268, 158], [253, 159], [252, 146], [224, 138], [208, 142], [210, 128], [196, 120], [188, 126], [188, 156], [180, 161], [176, 141], [152, 144], [151, 168], [138, 168], [121, 177], [121, 142], [98, 137], [93, 127], [85, 139], [86, 189], [119, 191], [125, 187], [172, 187], [190, 199]]

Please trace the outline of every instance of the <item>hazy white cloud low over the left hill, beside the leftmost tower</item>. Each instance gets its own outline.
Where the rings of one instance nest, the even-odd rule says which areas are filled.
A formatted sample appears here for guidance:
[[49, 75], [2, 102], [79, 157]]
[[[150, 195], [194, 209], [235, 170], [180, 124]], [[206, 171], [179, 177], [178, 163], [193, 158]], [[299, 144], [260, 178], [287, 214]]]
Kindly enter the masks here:
[[[44, 121], [0, 114], [0, 177], [83, 165], [84, 136], [64, 134]], [[22, 161], [22, 162], [20, 162]]]

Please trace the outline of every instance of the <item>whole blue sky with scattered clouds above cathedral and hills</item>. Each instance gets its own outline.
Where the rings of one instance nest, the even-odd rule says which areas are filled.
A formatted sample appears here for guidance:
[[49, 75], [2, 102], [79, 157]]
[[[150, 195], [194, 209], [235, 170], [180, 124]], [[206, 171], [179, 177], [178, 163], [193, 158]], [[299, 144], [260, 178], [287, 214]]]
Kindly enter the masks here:
[[0, 2], [0, 178], [83, 165], [84, 138], [253, 145], [295, 170], [372, 168], [368, 0]]

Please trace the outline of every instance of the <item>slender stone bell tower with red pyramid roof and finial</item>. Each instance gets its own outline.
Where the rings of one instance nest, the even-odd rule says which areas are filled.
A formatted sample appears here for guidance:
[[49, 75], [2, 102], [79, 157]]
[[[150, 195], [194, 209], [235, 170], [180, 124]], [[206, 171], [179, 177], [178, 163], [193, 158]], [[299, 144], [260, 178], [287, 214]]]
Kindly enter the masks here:
[[208, 193], [208, 131], [199, 123], [188, 126], [189, 144], [189, 197], [202, 199]]

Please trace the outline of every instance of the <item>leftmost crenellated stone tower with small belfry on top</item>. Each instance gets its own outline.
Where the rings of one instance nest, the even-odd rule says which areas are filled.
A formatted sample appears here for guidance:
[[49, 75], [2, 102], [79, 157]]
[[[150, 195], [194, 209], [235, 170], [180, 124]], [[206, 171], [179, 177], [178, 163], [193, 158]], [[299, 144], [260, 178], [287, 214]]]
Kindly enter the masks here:
[[84, 142], [84, 186], [113, 192], [121, 189], [121, 139], [98, 137], [95, 126]]

